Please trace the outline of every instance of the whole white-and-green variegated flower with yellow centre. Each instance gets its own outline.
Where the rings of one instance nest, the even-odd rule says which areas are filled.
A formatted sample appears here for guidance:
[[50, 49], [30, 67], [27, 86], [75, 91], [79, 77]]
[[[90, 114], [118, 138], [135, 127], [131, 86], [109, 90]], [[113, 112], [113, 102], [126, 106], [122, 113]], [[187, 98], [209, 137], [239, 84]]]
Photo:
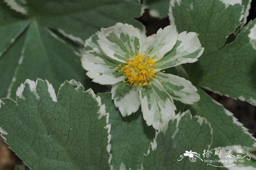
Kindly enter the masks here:
[[178, 33], [169, 25], [146, 37], [132, 25], [117, 23], [87, 39], [84, 49], [87, 76], [112, 85], [112, 99], [123, 116], [141, 105], [147, 125], [159, 130], [175, 116], [173, 99], [186, 104], [200, 99], [191, 82], [161, 71], [197, 61], [204, 48], [195, 32]]

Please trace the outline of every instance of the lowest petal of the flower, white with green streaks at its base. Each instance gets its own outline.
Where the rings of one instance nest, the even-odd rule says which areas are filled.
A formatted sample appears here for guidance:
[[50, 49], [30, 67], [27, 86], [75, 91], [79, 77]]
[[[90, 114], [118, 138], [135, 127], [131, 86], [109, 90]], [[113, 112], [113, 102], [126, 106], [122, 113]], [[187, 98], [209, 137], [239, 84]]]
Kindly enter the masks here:
[[170, 119], [175, 116], [175, 105], [171, 96], [165, 91], [158, 80], [151, 81], [152, 87], [143, 87], [139, 90], [143, 118], [148, 126], [156, 130], [166, 130]]

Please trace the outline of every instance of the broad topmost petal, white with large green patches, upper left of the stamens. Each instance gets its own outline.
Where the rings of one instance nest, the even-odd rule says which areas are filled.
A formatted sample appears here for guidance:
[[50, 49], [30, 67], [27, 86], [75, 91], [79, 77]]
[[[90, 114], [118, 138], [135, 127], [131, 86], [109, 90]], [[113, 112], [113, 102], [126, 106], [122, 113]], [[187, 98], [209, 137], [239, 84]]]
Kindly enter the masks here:
[[129, 59], [129, 55], [135, 56], [137, 47], [142, 45], [139, 29], [129, 24], [117, 23], [113, 27], [101, 28], [98, 37], [103, 52], [122, 63]]

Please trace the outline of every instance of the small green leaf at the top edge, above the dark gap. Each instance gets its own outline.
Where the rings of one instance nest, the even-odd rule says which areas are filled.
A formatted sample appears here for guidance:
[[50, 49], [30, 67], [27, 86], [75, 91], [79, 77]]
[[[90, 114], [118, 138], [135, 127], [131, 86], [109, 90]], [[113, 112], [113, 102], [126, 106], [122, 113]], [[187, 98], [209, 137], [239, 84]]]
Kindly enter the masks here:
[[167, 17], [169, 3], [170, 0], [145, 0], [149, 14], [159, 19]]

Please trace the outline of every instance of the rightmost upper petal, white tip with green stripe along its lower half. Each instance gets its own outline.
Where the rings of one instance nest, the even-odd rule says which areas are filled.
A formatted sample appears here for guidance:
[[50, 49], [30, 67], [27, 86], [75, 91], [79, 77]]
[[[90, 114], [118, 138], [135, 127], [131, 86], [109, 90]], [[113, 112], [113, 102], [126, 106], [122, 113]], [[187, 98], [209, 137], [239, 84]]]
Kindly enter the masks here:
[[197, 33], [187, 31], [178, 34], [178, 40], [173, 50], [156, 63], [156, 71], [178, 66], [184, 63], [193, 63], [203, 54], [204, 48], [197, 37]]

